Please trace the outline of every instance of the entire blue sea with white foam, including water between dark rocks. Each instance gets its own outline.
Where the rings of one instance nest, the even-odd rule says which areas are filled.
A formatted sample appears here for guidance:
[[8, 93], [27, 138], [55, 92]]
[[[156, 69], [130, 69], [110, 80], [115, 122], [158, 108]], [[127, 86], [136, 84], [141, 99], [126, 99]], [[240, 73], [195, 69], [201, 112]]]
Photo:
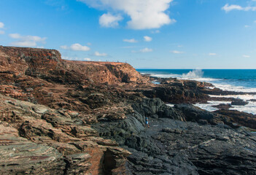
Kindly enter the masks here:
[[[150, 74], [153, 77], [190, 79], [199, 82], [210, 82], [216, 88], [236, 92], [256, 93], [256, 69], [137, 69], [141, 74]], [[158, 82], [155, 82], [158, 83]], [[220, 96], [218, 96], [220, 97]], [[256, 114], [256, 95], [221, 96], [240, 98], [248, 101], [245, 106], [233, 106], [230, 110], [238, 110]], [[230, 101], [208, 101], [207, 104], [195, 106], [208, 111], [215, 111], [213, 106], [218, 104], [231, 104]]]

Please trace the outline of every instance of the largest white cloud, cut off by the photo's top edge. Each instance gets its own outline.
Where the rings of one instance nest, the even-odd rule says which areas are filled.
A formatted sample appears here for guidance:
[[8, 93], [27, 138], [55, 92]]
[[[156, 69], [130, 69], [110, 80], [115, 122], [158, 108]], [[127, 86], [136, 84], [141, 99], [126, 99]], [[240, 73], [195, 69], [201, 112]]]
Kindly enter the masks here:
[[[175, 23], [169, 18], [166, 10], [173, 0], [77, 0], [97, 9], [107, 9], [110, 12], [123, 12], [131, 20], [128, 28], [150, 29]], [[105, 15], [105, 14], [104, 14]]]

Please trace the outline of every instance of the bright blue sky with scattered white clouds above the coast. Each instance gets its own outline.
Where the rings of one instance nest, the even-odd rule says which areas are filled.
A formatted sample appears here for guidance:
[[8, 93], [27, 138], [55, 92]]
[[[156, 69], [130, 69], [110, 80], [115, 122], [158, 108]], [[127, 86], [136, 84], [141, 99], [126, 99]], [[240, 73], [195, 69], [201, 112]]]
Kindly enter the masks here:
[[136, 69], [256, 69], [256, 0], [1, 0], [0, 45]]

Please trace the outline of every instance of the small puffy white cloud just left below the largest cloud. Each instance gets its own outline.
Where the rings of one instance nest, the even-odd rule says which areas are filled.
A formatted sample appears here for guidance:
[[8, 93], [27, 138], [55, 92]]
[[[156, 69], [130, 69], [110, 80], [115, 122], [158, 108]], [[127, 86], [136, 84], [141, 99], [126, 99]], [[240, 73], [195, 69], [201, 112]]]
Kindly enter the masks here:
[[117, 27], [119, 24], [118, 22], [120, 20], [123, 20], [123, 17], [121, 15], [112, 15], [110, 13], [105, 13], [104, 15], [101, 15], [99, 18], [99, 23], [103, 27]]

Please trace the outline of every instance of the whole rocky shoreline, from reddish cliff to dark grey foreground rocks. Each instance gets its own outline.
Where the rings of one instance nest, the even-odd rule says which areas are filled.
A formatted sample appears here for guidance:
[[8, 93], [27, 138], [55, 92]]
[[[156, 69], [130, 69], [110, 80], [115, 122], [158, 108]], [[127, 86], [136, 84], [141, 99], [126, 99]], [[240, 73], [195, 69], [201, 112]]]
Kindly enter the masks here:
[[235, 92], [2, 46], [0, 80], [0, 174], [256, 172], [255, 115], [193, 106]]

